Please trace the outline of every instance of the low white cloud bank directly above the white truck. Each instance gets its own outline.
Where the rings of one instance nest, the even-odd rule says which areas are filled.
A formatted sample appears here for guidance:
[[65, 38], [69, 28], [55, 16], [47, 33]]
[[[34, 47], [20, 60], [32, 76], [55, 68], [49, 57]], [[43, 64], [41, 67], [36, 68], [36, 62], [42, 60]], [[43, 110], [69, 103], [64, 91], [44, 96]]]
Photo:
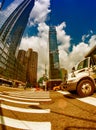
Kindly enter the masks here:
[[84, 58], [84, 56], [96, 45], [96, 35], [92, 36], [88, 44], [84, 42], [78, 43], [78, 45], [74, 45], [72, 52], [69, 54], [62, 50], [60, 51], [60, 63], [62, 67], [65, 67], [69, 72], [71, 68], [77, 64], [80, 60]]

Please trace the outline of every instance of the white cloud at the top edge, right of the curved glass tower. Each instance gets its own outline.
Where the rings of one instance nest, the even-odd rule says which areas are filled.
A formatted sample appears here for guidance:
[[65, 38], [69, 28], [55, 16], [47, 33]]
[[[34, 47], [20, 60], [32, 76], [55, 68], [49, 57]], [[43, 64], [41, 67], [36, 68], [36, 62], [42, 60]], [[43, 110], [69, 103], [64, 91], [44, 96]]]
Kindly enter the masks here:
[[47, 15], [50, 12], [50, 0], [37, 0], [35, 6], [30, 14], [29, 24], [43, 23], [47, 19]]

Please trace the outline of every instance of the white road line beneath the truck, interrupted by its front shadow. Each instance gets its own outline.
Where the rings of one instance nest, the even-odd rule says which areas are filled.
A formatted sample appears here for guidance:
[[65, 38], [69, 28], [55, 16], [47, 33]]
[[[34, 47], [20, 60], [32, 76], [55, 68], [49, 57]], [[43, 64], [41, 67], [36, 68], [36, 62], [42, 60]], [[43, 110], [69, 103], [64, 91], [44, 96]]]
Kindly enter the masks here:
[[[70, 92], [68, 91], [58, 91], [59, 93], [62, 93], [64, 95], [67, 95], [67, 94], [71, 94]], [[83, 97], [83, 98], [76, 98], [77, 100], [80, 100], [82, 102], [85, 102], [85, 103], [88, 103], [88, 104], [91, 104], [93, 106], [96, 106], [96, 98], [94, 97]]]

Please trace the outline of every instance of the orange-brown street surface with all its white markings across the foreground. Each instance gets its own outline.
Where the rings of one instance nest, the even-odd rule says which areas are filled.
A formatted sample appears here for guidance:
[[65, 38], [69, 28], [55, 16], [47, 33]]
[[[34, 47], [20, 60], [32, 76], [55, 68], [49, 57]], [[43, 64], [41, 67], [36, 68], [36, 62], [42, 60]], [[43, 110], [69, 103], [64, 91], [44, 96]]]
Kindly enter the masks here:
[[95, 130], [96, 93], [0, 87], [0, 130]]

